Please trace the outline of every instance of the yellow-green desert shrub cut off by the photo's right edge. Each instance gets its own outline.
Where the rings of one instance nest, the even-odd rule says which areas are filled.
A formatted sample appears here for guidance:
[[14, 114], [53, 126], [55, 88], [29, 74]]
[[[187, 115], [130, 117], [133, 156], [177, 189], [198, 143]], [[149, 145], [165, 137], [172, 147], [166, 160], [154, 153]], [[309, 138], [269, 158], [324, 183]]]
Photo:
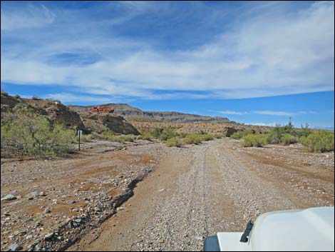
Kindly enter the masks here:
[[305, 146], [307, 151], [334, 151], [334, 133], [328, 131], [311, 133], [307, 137], [301, 136], [300, 142]]

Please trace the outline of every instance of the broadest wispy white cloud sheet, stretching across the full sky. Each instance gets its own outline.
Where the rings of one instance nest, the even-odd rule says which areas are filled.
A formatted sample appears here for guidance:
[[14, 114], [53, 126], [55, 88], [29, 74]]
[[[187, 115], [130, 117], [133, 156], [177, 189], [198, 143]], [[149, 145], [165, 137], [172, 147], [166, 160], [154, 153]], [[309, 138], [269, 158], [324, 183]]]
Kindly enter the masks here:
[[[42, 5], [27, 12], [5, 10], [4, 15], [1, 9], [1, 81], [143, 99], [237, 99], [334, 90], [334, 3], [316, 2], [290, 15], [273, 11], [279, 4], [253, 9], [248, 19], [205, 44], [175, 50], [107, 32], [155, 8], [164, 11], [160, 4], [126, 3], [124, 16], [101, 22]], [[272, 15], [264, 15], [267, 11]], [[42, 31], [32, 29], [43, 26]], [[2, 46], [3, 38], [23, 42]], [[73, 58], [55, 64], [63, 55]], [[96, 60], [82, 65], [76, 55]]]

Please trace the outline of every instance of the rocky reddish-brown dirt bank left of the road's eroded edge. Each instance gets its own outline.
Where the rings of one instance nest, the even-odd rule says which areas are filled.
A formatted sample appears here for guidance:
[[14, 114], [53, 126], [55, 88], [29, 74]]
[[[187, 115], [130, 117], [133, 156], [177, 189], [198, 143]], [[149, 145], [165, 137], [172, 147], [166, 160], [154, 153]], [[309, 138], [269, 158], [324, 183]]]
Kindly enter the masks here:
[[68, 248], [115, 213], [156, 166], [159, 143], [100, 147], [71, 158], [1, 163], [1, 251]]

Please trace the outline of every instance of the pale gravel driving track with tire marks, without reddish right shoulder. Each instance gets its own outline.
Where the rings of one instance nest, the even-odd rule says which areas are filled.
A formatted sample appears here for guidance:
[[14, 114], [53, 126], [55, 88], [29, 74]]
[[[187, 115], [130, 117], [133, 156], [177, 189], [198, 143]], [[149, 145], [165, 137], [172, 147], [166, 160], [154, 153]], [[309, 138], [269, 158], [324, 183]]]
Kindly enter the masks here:
[[201, 251], [205, 236], [241, 231], [262, 213], [322, 205], [299, 198], [282, 176], [269, 172], [272, 166], [255, 168], [257, 159], [234, 151], [234, 144], [221, 139], [168, 148], [168, 158], [138, 184], [125, 211], [104, 224], [96, 241], [71, 250]]

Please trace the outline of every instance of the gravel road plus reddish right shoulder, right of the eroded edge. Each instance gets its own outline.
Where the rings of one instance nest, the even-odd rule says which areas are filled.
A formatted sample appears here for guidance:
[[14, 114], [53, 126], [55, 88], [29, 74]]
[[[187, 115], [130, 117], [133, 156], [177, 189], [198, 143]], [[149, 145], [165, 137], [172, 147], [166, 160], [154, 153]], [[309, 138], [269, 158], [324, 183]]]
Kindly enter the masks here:
[[169, 148], [134, 193], [69, 250], [200, 251], [205, 236], [241, 231], [261, 213], [334, 206], [334, 153], [227, 138]]

